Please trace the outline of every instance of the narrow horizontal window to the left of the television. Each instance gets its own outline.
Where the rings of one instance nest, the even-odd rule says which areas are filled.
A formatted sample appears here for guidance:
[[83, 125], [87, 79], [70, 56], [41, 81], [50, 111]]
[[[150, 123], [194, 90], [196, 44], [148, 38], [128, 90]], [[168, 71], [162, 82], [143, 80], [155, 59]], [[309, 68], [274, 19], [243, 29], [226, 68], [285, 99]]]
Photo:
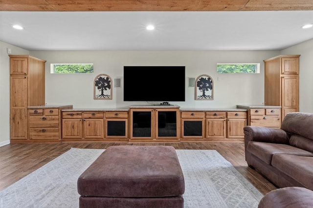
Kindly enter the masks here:
[[79, 64], [79, 63], [67, 63], [67, 64], [50, 64], [51, 74], [79, 74], [79, 73], [93, 73], [93, 64]]

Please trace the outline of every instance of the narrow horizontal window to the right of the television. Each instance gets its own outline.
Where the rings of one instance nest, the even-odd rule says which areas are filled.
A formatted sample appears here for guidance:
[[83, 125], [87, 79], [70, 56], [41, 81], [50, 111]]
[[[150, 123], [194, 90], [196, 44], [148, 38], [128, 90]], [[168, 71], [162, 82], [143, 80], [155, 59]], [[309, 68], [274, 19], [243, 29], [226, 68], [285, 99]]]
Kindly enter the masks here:
[[260, 73], [259, 63], [218, 63], [217, 73], [232, 74], [232, 73]]

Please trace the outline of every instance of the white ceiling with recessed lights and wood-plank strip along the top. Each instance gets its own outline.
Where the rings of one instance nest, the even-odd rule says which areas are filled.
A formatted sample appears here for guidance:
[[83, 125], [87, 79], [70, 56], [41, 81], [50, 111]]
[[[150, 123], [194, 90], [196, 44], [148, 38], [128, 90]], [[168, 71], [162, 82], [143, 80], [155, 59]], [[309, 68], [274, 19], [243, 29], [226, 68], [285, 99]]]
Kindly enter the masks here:
[[218, 2], [0, 0], [0, 40], [27, 50], [162, 51], [281, 50], [313, 38], [313, 27], [301, 28], [313, 23], [312, 0]]

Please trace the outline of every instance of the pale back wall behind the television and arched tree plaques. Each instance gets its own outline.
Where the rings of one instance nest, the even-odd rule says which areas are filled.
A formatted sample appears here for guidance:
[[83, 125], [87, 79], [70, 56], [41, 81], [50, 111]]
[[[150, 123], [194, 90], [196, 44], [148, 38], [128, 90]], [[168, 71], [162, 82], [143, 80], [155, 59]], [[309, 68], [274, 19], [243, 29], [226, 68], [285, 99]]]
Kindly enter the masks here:
[[[112, 100], [93, 99], [93, 81], [99, 74], [121, 77], [125, 65], [186, 66], [186, 101], [171, 102], [182, 108], [234, 108], [237, 104], [264, 102], [264, 59], [279, 51], [32, 51], [46, 61], [47, 104], [72, 104], [74, 108], [128, 107], [146, 102], [124, 102], [122, 88], [113, 88]], [[93, 63], [93, 74], [50, 74], [50, 63]], [[260, 74], [217, 74], [217, 63], [261, 63]], [[188, 77], [209, 75], [214, 81], [214, 100], [195, 100]], [[164, 75], [166, 76], [166, 75]], [[219, 78], [219, 79], [218, 79]], [[166, 100], [164, 100], [166, 101]]]

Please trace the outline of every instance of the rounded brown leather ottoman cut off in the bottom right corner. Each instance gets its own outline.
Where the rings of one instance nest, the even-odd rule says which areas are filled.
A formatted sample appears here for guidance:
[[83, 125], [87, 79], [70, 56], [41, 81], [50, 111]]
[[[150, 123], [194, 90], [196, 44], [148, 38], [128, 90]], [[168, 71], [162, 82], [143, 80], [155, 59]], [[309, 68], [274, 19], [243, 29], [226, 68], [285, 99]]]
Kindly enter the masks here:
[[258, 208], [313, 208], [313, 191], [303, 187], [285, 187], [268, 192]]

